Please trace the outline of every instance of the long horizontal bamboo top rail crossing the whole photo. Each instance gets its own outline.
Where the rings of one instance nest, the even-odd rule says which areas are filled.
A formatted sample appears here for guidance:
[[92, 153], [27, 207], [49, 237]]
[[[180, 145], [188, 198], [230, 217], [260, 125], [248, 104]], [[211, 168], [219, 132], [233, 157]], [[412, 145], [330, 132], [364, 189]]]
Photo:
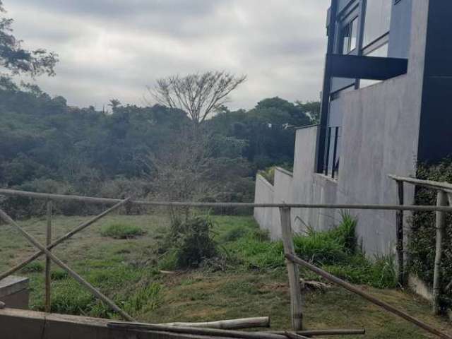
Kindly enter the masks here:
[[[452, 193], [452, 191], [451, 191]], [[11, 189], [0, 189], [0, 194], [6, 196], [28, 196], [30, 198], [52, 199], [55, 201], [83, 201], [85, 203], [113, 204], [121, 202], [121, 199], [95, 198], [87, 196], [69, 196], [62, 194], [44, 194]], [[418, 212], [442, 212], [452, 213], [449, 206], [400, 206], [378, 204], [339, 204], [339, 203], [191, 203], [171, 201], [129, 201], [134, 205], [143, 206], [186, 206], [186, 207], [257, 207], [257, 208], [337, 208], [343, 210], [412, 210]]]

